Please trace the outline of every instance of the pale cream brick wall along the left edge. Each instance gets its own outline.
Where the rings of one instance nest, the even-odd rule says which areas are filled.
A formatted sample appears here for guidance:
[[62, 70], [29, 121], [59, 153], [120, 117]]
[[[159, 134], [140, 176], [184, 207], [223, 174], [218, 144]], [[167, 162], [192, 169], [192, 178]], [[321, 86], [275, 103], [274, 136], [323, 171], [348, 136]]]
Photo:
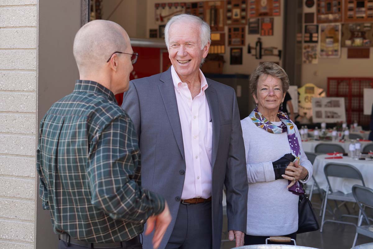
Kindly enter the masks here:
[[0, 1], [0, 249], [33, 249], [37, 0]]

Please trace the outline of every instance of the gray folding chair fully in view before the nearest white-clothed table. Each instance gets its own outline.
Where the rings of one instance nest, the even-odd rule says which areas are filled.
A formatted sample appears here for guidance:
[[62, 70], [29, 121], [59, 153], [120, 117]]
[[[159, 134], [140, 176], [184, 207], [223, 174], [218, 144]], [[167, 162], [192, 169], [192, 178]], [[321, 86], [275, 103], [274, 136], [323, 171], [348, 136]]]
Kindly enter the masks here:
[[[325, 198], [324, 198], [323, 217], [322, 217], [322, 220], [321, 220], [320, 233], [322, 233], [322, 231], [323, 231], [324, 223], [328, 222], [328, 221], [329, 222], [342, 223], [342, 224], [350, 224], [350, 225], [356, 226], [356, 224], [354, 224], [352, 222], [337, 221], [337, 220], [325, 220], [325, 211], [326, 211], [326, 206], [327, 206], [327, 200], [334, 200], [337, 210], [338, 210], [337, 200], [342, 201], [342, 202], [354, 202], [354, 203], [356, 202], [352, 193], [344, 194], [340, 191], [333, 192], [332, 188], [330, 187], [329, 177], [356, 179], [356, 180], [360, 180], [362, 185], [365, 186], [363, 176], [361, 175], [360, 171], [350, 164], [329, 163], [329, 164], [325, 165], [324, 173], [325, 173], [325, 177], [326, 177], [326, 181], [327, 181], [327, 187], [326, 187], [326, 194], [325, 194]], [[354, 215], [347, 215], [347, 214], [340, 215], [341, 218], [343, 216], [355, 217]], [[359, 211], [358, 217], [360, 217], [360, 211]]]

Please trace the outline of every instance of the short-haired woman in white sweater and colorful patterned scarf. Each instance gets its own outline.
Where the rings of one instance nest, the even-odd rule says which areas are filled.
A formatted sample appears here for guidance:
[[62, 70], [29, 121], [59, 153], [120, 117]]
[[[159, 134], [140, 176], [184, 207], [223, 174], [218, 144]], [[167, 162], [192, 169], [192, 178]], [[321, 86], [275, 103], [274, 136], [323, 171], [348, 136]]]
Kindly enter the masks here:
[[[264, 244], [269, 236], [296, 239], [301, 183], [312, 176], [297, 127], [280, 106], [289, 89], [286, 72], [272, 62], [260, 63], [250, 76], [256, 102], [241, 120], [247, 178], [247, 235], [245, 245]], [[293, 162], [294, 161], [294, 162]]]

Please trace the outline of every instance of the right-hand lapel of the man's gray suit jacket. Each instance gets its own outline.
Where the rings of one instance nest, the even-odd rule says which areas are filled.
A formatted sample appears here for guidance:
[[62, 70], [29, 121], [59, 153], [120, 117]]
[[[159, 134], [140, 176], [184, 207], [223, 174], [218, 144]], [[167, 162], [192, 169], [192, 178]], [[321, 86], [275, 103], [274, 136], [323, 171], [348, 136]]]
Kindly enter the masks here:
[[210, 79], [207, 79], [209, 87], [206, 88], [207, 103], [209, 103], [210, 117], [212, 121], [212, 152], [211, 152], [211, 167], [214, 168], [217, 147], [219, 146], [219, 134], [220, 134], [220, 115], [219, 115], [219, 103], [217, 101], [217, 93], [215, 88], [212, 87]]

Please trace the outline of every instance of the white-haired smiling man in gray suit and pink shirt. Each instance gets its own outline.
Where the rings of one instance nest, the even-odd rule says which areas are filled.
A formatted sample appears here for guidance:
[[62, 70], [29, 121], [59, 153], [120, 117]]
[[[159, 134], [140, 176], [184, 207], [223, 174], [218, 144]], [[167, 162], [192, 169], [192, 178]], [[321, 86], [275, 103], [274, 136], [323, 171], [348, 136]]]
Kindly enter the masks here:
[[[241, 246], [248, 184], [235, 91], [200, 70], [210, 47], [206, 22], [174, 16], [164, 33], [172, 66], [131, 81], [122, 105], [139, 136], [142, 183], [165, 197], [172, 215], [160, 248], [220, 248], [223, 185], [229, 239]], [[143, 246], [151, 248], [151, 236]]]

